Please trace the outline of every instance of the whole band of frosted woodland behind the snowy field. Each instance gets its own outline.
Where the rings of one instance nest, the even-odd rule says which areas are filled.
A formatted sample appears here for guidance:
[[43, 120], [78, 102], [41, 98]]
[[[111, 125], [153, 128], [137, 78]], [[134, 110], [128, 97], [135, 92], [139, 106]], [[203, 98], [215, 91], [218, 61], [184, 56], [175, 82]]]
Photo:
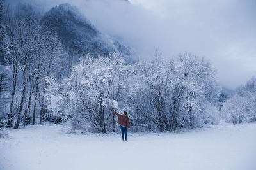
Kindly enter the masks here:
[[156, 50], [148, 60], [131, 60], [129, 48], [92, 36], [77, 38], [78, 48], [68, 44], [71, 34], [64, 41], [65, 35], [45, 24], [47, 15], [0, 1], [0, 127], [67, 124], [115, 132], [114, 108], [127, 111], [134, 132], [256, 121], [256, 78], [226, 94], [213, 61], [204, 57], [164, 57]]

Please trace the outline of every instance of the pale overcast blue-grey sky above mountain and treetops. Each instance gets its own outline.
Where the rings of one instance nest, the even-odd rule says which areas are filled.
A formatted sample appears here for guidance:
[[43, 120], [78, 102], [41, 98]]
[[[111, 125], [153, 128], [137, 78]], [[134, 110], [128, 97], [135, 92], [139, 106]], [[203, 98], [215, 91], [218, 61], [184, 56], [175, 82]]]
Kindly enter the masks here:
[[[17, 3], [17, 0], [8, 0]], [[235, 89], [256, 76], [255, 0], [22, 0], [44, 11], [70, 3], [141, 59], [189, 51], [210, 59], [218, 81]]]

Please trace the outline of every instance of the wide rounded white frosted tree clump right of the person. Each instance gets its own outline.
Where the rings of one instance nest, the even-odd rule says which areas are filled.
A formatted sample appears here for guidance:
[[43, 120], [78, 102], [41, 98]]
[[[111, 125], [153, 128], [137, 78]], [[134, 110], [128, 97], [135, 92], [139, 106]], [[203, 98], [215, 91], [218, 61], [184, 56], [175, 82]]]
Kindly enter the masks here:
[[134, 118], [140, 120], [137, 123], [161, 132], [200, 127], [214, 118], [212, 123], [218, 122], [218, 110], [212, 103], [216, 103], [220, 87], [208, 62], [191, 53], [180, 53], [176, 59], [161, 59], [156, 54], [155, 60], [134, 67], [130, 104]]

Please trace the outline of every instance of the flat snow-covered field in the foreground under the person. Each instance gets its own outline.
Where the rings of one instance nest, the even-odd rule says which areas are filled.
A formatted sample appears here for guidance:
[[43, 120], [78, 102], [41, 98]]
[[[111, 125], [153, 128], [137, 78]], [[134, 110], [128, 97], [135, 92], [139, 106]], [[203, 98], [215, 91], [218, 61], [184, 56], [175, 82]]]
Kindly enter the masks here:
[[256, 169], [256, 124], [128, 134], [129, 142], [120, 134], [70, 134], [62, 125], [4, 131], [1, 170]]

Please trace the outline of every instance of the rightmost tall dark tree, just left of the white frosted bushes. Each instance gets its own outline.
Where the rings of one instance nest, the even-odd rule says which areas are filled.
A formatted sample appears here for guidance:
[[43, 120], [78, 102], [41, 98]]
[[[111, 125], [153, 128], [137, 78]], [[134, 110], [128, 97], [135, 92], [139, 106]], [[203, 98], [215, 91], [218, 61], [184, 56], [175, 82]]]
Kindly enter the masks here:
[[[47, 100], [45, 99], [45, 92], [47, 88], [47, 82], [45, 77], [56, 76], [58, 86], [61, 86], [61, 79], [67, 76], [67, 70], [65, 69], [66, 62], [66, 52], [65, 47], [61, 44], [60, 39], [57, 34], [44, 28], [42, 39], [44, 43], [42, 46], [41, 59], [38, 60], [37, 76], [36, 81], [42, 80], [41, 93], [40, 96], [40, 124], [42, 123], [42, 118], [49, 118], [47, 113]], [[40, 73], [41, 72], [41, 73]], [[36, 84], [36, 90], [38, 91], [38, 83]], [[33, 118], [34, 119], [34, 118]]]

